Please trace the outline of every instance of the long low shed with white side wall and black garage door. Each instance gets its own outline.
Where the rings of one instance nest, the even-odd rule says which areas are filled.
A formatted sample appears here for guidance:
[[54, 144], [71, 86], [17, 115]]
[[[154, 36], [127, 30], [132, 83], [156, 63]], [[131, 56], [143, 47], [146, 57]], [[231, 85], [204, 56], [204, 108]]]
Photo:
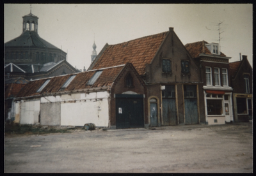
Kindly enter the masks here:
[[145, 123], [145, 96], [145, 83], [127, 63], [32, 80], [14, 99], [13, 114], [20, 124], [138, 128]]

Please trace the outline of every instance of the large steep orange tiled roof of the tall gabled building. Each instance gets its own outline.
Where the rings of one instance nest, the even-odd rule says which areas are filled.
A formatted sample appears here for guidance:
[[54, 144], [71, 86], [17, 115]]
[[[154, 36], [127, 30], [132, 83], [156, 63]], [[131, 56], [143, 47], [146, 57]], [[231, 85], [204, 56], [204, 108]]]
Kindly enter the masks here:
[[168, 32], [145, 36], [135, 40], [109, 45], [100, 55], [92, 70], [132, 63], [139, 75], [145, 74], [146, 64], [156, 55]]

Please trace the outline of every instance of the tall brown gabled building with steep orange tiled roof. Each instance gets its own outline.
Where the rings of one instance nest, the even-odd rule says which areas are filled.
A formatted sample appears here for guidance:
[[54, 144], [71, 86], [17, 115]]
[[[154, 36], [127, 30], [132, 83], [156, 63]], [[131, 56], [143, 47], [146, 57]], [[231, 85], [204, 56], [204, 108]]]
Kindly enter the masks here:
[[147, 86], [146, 127], [205, 123], [200, 68], [173, 27], [116, 45], [107, 43], [88, 70], [126, 62], [132, 63]]

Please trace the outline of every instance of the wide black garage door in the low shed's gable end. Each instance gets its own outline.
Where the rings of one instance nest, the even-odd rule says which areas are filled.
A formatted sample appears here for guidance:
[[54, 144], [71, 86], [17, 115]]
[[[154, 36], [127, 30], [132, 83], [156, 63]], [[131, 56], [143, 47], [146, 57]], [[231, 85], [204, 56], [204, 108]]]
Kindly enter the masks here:
[[143, 127], [143, 95], [116, 94], [116, 128]]

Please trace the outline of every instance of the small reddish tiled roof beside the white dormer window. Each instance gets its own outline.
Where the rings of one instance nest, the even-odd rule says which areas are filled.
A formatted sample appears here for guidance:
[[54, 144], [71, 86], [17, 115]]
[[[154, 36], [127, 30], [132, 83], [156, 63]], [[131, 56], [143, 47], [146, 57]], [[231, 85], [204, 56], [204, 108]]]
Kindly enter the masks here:
[[[205, 44], [207, 44], [207, 41], [197, 41], [194, 43], [188, 43], [185, 45], [185, 48], [188, 50], [189, 54], [195, 58], [195, 57], [199, 57], [199, 54], [211, 54], [211, 51], [208, 50], [207, 47], [205, 47]], [[220, 52], [220, 56], [226, 56], [225, 54], [223, 54], [222, 52]]]

